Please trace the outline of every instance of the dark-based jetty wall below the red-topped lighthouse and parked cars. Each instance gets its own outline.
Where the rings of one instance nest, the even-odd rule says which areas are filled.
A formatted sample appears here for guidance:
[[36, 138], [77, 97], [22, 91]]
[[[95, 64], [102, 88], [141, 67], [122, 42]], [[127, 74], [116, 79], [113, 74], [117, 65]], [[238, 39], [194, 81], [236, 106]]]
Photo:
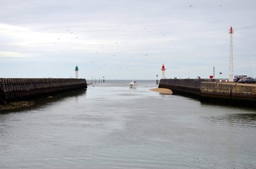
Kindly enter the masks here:
[[174, 94], [194, 97], [203, 103], [256, 108], [256, 84], [164, 79], [160, 80], [158, 87], [171, 89]]

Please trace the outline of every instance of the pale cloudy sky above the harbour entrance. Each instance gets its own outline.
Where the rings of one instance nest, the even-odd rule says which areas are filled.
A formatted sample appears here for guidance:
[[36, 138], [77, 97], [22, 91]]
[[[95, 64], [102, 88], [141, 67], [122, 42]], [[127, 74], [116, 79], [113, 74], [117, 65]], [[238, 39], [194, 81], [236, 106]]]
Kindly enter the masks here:
[[0, 77], [256, 77], [255, 0], [0, 0]]

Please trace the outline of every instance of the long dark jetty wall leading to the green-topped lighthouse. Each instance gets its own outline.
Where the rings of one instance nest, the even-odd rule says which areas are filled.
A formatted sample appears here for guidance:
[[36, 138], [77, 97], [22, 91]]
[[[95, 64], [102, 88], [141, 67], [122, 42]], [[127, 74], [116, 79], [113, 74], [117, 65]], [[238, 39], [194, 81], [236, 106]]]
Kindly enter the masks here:
[[86, 88], [85, 79], [0, 78], [0, 104]]

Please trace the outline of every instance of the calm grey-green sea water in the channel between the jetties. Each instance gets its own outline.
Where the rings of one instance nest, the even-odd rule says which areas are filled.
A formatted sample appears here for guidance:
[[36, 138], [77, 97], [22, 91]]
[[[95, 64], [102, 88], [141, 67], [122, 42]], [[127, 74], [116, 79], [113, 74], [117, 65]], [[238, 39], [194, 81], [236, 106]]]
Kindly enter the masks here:
[[0, 168], [256, 168], [256, 111], [106, 81], [0, 113]]

